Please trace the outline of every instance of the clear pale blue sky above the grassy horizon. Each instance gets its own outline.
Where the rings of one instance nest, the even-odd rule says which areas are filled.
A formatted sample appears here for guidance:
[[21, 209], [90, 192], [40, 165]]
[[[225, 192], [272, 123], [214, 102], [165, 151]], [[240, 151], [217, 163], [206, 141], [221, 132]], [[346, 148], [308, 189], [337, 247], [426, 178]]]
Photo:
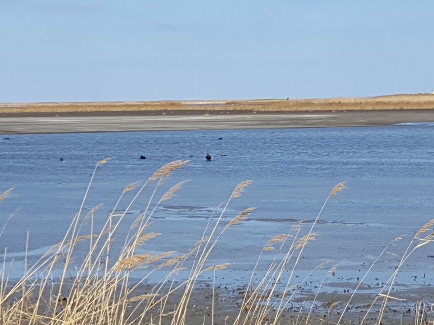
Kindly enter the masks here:
[[433, 0], [0, 0], [0, 102], [433, 90]]

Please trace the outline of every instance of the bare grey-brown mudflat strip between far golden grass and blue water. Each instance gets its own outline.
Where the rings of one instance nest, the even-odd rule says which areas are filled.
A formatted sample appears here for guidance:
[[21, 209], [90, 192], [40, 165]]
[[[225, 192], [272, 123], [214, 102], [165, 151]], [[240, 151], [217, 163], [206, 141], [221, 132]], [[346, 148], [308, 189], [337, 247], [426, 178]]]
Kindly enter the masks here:
[[434, 122], [434, 110], [229, 110], [3, 113], [0, 134], [387, 126]]

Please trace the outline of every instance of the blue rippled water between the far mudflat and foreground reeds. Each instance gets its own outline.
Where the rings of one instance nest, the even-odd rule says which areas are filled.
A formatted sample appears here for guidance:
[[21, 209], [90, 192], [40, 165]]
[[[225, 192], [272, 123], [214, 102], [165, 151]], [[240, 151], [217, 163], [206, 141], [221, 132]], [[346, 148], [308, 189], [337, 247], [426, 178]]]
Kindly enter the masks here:
[[[58, 242], [79, 207], [95, 163], [103, 158], [114, 160], [98, 170], [85, 205], [88, 211], [104, 203], [97, 213], [100, 222], [126, 185], [146, 180], [167, 162], [190, 159], [159, 192], [190, 180], [156, 211], [152, 228], [165, 237], [152, 242], [154, 251], [170, 249], [174, 242], [178, 250], [187, 251], [202, 235], [214, 207], [240, 181], [253, 180], [230, 205], [227, 220], [246, 207], [257, 210], [221, 242], [224, 258], [214, 256], [248, 269], [267, 239], [286, 232], [294, 221], [314, 219], [333, 186], [346, 181], [347, 188], [326, 206], [317, 227], [321, 236], [307, 250], [306, 260], [331, 258], [352, 267], [360, 265], [361, 257], [377, 256], [396, 236], [412, 236], [433, 218], [433, 139], [433, 124], [5, 135], [0, 140], [0, 192], [15, 190], [0, 203], [0, 227], [19, 210], [0, 242], [17, 260], [23, 258], [27, 230], [35, 256]], [[208, 152], [211, 162], [205, 160]], [[146, 160], [139, 159], [141, 154]], [[133, 208], [132, 219], [145, 208], [148, 193]], [[427, 265], [424, 260], [431, 250], [414, 263], [422, 261], [434, 271], [433, 262]]]

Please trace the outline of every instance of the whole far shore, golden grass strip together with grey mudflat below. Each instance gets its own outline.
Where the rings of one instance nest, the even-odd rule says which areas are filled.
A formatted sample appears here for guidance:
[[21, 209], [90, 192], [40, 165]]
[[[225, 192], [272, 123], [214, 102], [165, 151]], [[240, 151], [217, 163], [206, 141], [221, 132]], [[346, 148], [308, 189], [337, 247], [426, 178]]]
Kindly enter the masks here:
[[434, 122], [434, 95], [0, 103], [0, 134], [386, 126]]

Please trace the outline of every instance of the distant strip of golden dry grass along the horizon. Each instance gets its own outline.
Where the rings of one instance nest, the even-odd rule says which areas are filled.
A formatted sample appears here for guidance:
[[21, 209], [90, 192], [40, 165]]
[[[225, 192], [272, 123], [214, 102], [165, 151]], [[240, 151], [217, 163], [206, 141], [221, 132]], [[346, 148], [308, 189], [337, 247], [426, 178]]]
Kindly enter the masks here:
[[406, 94], [379, 97], [256, 100], [162, 100], [118, 102], [0, 103], [4, 113], [125, 112], [125, 111], [330, 111], [434, 109], [434, 95]]

